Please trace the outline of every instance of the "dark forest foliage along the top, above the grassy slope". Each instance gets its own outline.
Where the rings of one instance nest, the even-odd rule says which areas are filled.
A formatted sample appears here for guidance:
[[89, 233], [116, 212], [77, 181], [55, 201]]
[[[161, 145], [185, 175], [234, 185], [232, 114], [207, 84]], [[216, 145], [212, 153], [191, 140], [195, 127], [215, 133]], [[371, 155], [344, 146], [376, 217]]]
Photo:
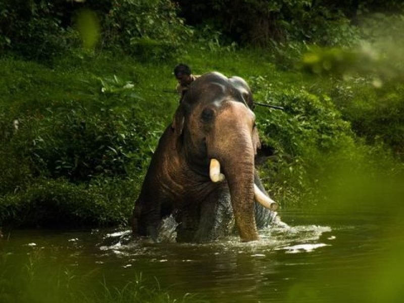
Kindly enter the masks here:
[[[393, 1], [349, 0], [181, 0], [179, 5], [170, 0], [6, 0], [0, 4], [0, 49], [49, 61], [72, 52], [81, 39], [88, 49], [121, 48], [142, 61], [161, 61], [178, 55], [179, 49], [183, 52], [189, 42], [208, 44], [212, 50], [236, 41], [270, 46], [279, 53], [277, 59], [293, 61], [292, 54], [299, 47], [296, 44], [289, 49], [289, 43], [353, 46], [361, 33], [357, 24], [395, 18], [389, 15], [402, 9]], [[367, 17], [377, 11], [384, 14]], [[179, 15], [199, 32], [210, 28], [216, 36], [201, 42], [200, 35], [194, 35], [194, 29]], [[369, 35], [369, 30], [362, 34]], [[292, 51], [290, 56], [288, 51]]]

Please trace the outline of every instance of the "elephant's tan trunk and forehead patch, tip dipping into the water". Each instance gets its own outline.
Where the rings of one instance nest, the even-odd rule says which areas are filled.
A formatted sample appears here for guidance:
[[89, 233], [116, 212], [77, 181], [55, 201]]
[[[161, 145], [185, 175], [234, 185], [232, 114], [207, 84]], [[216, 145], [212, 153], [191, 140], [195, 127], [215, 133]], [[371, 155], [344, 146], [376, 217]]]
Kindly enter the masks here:
[[235, 223], [242, 241], [258, 240], [254, 206], [255, 116], [244, 104], [229, 102], [216, 117], [215, 127], [206, 138], [208, 157], [213, 161], [211, 179], [229, 186]]

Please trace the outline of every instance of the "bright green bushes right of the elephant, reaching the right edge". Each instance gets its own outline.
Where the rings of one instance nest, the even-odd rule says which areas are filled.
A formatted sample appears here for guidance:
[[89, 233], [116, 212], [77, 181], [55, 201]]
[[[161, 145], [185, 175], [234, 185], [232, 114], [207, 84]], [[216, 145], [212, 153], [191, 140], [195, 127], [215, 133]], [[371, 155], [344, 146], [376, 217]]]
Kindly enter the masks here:
[[396, 155], [404, 142], [401, 86], [381, 91], [363, 78], [334, 79], [329, 91], [328, 81], [317, 79], [322, 89], [311, 86], [310, 93], [279, 89], [265, 77], [251, 80], [263, 99], [285, 109], [256, 110], [267, 153], [260, 169], [282, 206], [338, 207], [334, 195], [353, 186], [348, 180], [360, 186], [404, 172]]

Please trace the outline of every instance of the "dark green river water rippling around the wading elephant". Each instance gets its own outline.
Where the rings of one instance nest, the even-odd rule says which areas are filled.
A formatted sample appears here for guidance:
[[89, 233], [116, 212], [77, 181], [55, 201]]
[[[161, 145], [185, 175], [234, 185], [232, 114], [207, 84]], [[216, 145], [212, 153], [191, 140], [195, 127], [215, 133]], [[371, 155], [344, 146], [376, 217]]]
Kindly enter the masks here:
[[9, 267], [0, 279], [25, 262], [23, 271], [41, 277], [44, 289], [46, 276], [96, 289], [103, 281], [123, 287], [141, 273], [146, 285], [210, 302], [404, 302], [400, 220], [301, 212], [282, 219], [290, 228], [263, 230], [254, 243], [154, 244], [128, 241], [125, 230], [17, 230], [0, 243]]

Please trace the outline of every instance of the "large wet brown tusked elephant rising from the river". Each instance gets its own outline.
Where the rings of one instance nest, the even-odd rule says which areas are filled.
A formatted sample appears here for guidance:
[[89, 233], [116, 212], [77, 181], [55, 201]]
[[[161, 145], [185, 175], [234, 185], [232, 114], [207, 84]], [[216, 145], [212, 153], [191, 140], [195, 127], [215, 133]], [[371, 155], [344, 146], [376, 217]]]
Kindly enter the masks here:
[[134, 235], [156, 240], [172, 215], [177, 241], [209, 242], [235, 230], [243, 242], [259, 239], [277, 204], [255, 167], [261, 144], [252, 100], [240, 77], [210, 72], [192, 82], [150, 161]]

